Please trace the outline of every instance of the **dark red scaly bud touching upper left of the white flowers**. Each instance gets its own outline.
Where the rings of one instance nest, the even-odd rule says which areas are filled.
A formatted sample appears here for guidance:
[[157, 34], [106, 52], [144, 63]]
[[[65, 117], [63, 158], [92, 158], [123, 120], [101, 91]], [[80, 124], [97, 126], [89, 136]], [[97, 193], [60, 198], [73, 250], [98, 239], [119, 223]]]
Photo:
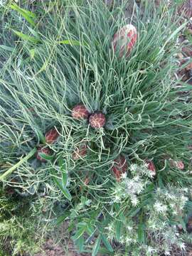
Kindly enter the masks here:
[[117, 181], [120, 181], [122, 174], [127, 171], [127, 167], [127, 160], [124, 158], [124, 156], [120, 155], [117, 157], [117, 159], [114, 159], [114, 166], [112, 166], [112, 171]]

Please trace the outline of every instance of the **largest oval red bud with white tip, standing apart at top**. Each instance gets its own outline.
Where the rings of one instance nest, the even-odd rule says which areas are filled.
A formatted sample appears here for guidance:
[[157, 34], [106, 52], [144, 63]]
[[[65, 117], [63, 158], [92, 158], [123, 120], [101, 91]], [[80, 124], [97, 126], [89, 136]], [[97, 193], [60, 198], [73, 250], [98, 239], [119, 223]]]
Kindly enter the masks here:
[[132, 24], [127, 24], [114, 34], [112, 39], [112, 46], [114, 52], [117, 52], [119, 57], [123, 55], [126, 57], [131, 53], [137, 41], [137, 29]]

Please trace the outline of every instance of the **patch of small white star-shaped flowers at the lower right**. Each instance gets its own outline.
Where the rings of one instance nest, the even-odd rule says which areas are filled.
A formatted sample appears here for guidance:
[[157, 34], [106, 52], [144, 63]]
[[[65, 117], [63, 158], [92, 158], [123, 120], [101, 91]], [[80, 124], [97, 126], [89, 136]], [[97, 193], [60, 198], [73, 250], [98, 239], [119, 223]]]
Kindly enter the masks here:
[[[112, 202], [120, 203], [122, 208], [124, 206], [132, 213], [132, 206], [137, 206], [141, 198], [144, 203], [147, 198], [145, 188], [148, 188], [152, 181], [151, 172], [145, 164], [142, 166], [132, 164], [129, 171], [131, 175], [124, 174], [114, 188]], [[186, 240], [183, 239], [182, 233], [178, 232], [177, 225], [169, 223], [169, 219], [170, 215], [173, 219], [176, 215], [183, 215], [189, 192], [188, 188], [176, 188], [176, 186], [156, 188], [152, 191], [150, 198], [146, 199], [144, 213], [141, 213], [142, 218], [146, 220], [144, 233], [148, 244], [138, 244], [138, 219], [134, 221], [132, 217], [124, 220], [123, 235], [119, 242], [134, 248], [132, 255], [157, 256], [162, 253], [172, 255], [173, 248], [185, 250], [184, 241]], [[108, 238], [111, 240], [116, 238], [115, 220], [108, 227]]]

